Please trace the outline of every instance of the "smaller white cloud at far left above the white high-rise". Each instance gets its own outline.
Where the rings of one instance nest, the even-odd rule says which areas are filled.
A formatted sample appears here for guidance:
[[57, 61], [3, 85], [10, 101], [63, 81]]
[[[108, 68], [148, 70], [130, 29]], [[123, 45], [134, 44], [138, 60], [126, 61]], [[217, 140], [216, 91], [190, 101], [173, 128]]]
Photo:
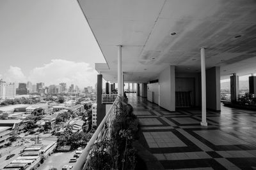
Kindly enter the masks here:
[[8, 82], [26, 82], [27, 78], [26, 76], [22, 73], [20, 67], [13, 67], [10, 66], [6, 74], [3, 74], [3, 79], [4, 81]]

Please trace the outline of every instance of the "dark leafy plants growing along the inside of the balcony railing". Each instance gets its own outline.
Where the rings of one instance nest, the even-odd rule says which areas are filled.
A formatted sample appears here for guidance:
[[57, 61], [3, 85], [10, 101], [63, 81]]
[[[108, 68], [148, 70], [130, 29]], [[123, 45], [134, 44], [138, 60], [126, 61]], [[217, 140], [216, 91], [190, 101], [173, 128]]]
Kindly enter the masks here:
[[139, 121], [132, 113], [132, 106], [127, 104], [127, 99], [120, 97], [115, 107], [115, 119], [110, 124], [110, 138], [93, 146], [89, 161], [92, 169], [135, 168], [136, 150], [132, 146], [132, 141], [138, 131]]

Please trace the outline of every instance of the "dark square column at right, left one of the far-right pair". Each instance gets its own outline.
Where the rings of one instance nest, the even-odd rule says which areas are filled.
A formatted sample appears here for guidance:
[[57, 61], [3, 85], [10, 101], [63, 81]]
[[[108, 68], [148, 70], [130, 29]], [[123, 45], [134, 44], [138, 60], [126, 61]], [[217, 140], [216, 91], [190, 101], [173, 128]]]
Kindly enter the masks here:
[[230, 100], [231, 103], [236, 103], [239, 97], [239, 76], [234, 73], [230, 76]]

